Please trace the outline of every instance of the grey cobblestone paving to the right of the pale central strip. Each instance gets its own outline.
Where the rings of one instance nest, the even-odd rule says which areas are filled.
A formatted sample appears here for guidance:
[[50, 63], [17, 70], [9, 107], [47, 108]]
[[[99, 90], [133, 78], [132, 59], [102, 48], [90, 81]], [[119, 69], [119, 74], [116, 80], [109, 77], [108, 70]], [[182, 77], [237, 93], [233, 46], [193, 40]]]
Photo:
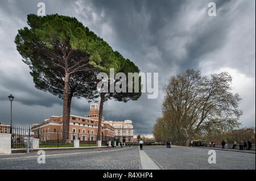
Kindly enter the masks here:
[[209, 149], [172, 146], [145, 146], [147, 155], [160, 169], [255, 169], [255, 154], [216, 151], [216, 163], [209, 164]]

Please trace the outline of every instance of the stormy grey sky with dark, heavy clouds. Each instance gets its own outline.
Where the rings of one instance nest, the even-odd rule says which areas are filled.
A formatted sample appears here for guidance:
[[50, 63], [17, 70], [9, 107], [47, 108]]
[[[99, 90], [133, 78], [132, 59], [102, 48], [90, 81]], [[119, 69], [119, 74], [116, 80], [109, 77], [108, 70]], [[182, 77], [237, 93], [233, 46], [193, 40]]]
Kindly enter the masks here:
[[[62, 115], [62, 100], [34, 87], [30, 69], [22, 62], [14, 38], [27, 27], [27, 14], [37, 14], [38, 3], [46, 14], [75, 16], [107, 41], [114, 50], [133, 61], [144, 73], [158, 73], [159, 96], [143, 93], [128, 103], [109, 100], [105, 120], [132, 120], [135, 134], [151, 134], [161, 116], [163, 86], [186, 69], [204, 75], [228, 71], [232, 91], [240, 94], [242, 127], [255, 127], [255, 1], [35, 1], [0, 0], [0, 122], [31, 126], [51, 115]], [[208, 15], [215, 2], [217, 15]], [[86, 99], [72, 100], [71, 114], [89, 114]]]

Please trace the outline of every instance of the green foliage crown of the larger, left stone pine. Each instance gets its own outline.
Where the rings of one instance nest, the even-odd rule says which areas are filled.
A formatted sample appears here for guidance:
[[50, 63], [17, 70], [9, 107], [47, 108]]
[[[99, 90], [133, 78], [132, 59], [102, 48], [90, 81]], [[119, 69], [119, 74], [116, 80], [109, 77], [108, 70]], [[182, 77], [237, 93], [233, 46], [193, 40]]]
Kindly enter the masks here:
[[[108, 43], [89, 31], [76, 18], [57, 14], [43, 17], [30, 14], [27, 20], [30, 29], [25, 27], [19, 30], [15, 37], [16, 48], [26, 64], [35, 66], [51, 61], [64, 67], [65, 64], [61, 61], [63, 56], [73, 50], [80, 56], [68, 57], [68, 65], [72, 66], [82, 57], [88, 57], [86, 64], [89, 62], [102, 71], [109, 71], [109, 68], [115, 68], [116, 71], [120, 69]], [[48, 54], [48, 60], [45, 60], [48, 62], [38, 62], [44, 54]], [[69, 69], [68, 73], [72, 73], [74, 69]]]

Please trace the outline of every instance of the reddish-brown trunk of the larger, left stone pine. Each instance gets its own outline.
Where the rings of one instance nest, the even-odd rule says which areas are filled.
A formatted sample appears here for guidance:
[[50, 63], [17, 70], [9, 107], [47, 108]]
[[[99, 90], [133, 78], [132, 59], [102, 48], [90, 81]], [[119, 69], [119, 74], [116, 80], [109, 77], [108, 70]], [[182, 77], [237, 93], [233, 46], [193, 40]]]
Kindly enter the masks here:
[[[68, 82], [69, 82], [69, 75], [66, 73], [65, 86], [63, 91], [63, 121], [62, 121], [64, 145], [67, 145], [67, 140], [69, 138], [70, 103], [69, 103], [69, 96], [68, 96]], [[71, 102], [71, 99], [70, 99], [70, 102]]]

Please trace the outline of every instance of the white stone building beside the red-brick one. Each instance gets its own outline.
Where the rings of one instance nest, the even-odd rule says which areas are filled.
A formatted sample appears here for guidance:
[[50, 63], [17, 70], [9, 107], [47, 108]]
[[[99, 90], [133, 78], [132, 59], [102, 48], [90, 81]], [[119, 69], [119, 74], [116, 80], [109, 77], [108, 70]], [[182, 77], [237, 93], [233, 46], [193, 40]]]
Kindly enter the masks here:
[[118, 139], [120, 142], [133, 142], [133, 121], [105, 121], [105, 123], [114, 127], [115, 139]]

